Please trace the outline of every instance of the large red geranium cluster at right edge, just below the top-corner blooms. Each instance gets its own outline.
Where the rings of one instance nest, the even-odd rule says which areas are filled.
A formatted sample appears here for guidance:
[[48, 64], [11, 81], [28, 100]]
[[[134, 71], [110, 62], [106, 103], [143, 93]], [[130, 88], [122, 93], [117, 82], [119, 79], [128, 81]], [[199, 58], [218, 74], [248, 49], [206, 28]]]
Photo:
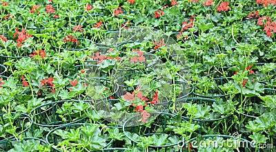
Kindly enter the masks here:
[[264, 25], [266, 36], [272, 36], [272, 31], [276, 33], [276, 23], [271, 21], [270, 17], [260, 17], [258, 19], [258, 25]]

